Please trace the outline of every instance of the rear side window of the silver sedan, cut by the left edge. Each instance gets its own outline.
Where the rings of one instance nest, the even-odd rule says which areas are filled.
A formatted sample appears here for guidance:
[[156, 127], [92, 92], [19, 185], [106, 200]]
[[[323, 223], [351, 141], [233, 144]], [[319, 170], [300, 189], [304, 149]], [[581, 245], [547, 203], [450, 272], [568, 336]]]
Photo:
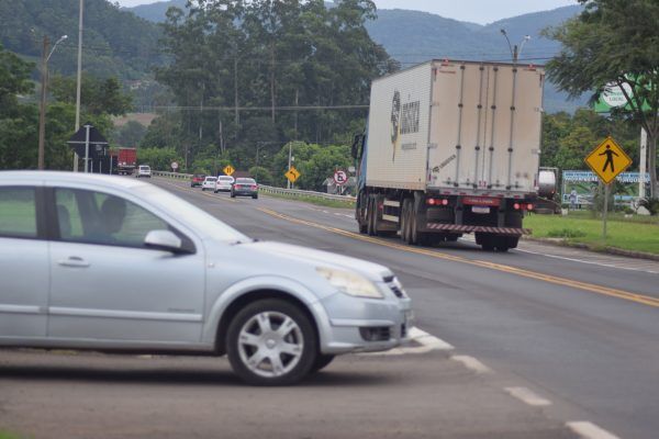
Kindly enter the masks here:
[[0, 236], [35, 238], [36, 234], [35, 189], [0, 187]]

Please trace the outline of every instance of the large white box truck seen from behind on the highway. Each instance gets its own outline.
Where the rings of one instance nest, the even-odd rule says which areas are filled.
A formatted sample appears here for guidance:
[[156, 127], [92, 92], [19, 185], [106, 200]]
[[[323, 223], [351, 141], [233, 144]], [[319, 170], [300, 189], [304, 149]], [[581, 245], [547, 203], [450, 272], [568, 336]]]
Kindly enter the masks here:
[[353, 145], [359, 230], [516, 247], [537, 196], [544, 82], [533, 65], [448, 60], [375, 80]]

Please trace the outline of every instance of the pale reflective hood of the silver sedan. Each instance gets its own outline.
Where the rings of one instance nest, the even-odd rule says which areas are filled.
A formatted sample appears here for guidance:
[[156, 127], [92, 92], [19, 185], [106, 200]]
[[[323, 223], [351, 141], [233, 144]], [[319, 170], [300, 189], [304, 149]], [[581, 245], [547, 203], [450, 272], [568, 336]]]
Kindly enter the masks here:
[[278, 259], [286, 258], [295, 263], [355, 271], [376, 282], [382, 282], [382, 278], [393, 275], [391, 270], [384, 266], [330, 251], [315, 250], [312, 248], [275, 241], [256, 241], [245, 244], [244, 246], [249, 247], [255, 251], [271, 255]]

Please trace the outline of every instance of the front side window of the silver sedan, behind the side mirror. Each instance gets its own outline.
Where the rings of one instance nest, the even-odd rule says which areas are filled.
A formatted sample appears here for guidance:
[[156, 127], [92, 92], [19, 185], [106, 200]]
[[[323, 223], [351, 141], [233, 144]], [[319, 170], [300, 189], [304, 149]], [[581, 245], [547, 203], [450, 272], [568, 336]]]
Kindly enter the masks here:
[[144, 247], [150, 230], [170, 229], [137, 204], [103, 192], [56, 189], [55, 203], [62, 240]]

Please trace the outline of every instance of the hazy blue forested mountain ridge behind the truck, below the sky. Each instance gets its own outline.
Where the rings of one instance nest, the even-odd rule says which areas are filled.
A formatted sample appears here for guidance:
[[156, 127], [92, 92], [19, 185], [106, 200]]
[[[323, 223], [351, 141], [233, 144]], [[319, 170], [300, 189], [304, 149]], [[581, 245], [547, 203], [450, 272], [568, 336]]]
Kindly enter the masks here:
[[[161, 1], [126, 8], [135, 14], [163, 22], [171, 5], [185, 9], [186, 0]], [[327, 7], [334, 3], [326, 2]], [[577, 15], [580, 5], [558, 8], [551, 11], [529, 13], [500, 20], [488, 25], [462, 22], [443, 16], [402, 9], [378, 11], [376, 20], [368, 21], [366, 29], [371, 38], [381, 44], [387, 53], [404, 68], [431, 58], [509, 61], [511, 52], [501, 29], [505, 29], [511, 44], [518, 44], [525, 35], [532, 40], [525, 44], [521, 59], [544, 64], [559, 50], [559, 44], [543, 37], [547, 26], [557, 26]], [[585, 98], [568, 101], [567, 94], [548, 86], [545, 90], [545, 109], [548, 112], [573, 112], [585, 104]]]

